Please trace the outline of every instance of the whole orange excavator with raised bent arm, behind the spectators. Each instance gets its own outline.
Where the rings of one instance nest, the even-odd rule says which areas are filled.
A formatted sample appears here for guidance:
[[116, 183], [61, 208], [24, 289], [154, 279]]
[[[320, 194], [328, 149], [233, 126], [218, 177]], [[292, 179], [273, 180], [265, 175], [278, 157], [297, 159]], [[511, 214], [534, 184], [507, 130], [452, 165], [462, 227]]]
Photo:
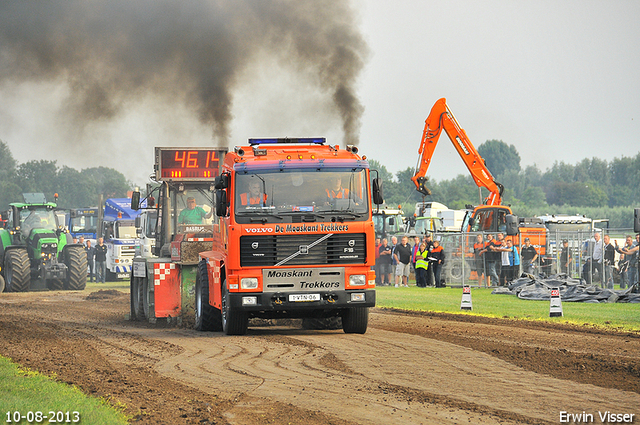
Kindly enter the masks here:
[[[462, 232], [503, 232], [511, 236], [519, 233], [520, 239], [528, 237], [531, 240], [531, 244], [538, 250], [538, 254], [545, 256], [547, 254], [548, 231], [544, 224], [541, 220], [533, 218], [517, 220], [513, 216], [511, 208], [508, 205], [502, 205], [504, 186], [495, 181], [484, 159], [473, 146], [467, 133], [447, 106], [445, 98], [438, 99], [425, 121], [418, 149], [418, 155], [420, 155], [418, 165], [414, 176], [411, 178], [416, 185], [416, 190], [425, 196], [431, 195], [431, 191], [426, 186], [428, 182], [426, 175], [442, 130], [449, 136], [476, 185], [489, 191], [489, 195], [484, 199], [482, 205], [470, 208], [460, 230]], [[517, 240], [514, 242], [516, 245], [518, 244]]]

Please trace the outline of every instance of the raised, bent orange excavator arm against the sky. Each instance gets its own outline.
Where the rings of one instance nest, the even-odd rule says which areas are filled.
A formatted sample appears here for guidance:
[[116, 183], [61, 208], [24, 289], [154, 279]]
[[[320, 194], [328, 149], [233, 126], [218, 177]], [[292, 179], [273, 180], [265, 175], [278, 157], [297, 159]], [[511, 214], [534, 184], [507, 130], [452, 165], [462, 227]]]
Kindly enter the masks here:
[[500, 205], [504, 186], [493, 179], [491, 172], [484, 163], [484, 159], [482, 159], [467, 137], [467, 133], [460, 127], [458, 121], [456, 121], [456, 118], [447, 106], [447, 100], [445, 98], [439, 99], [435, 105], [433, 105], [431, 113], [425, 121], [422, 141], [418, 149], [420, 158], [416, 166], [416, 173], [411, 178], [416, 185], [416, 190], [423, 195], [431, 194], [431, 191], [426, 187], [428, 181], [426, 175], [429, 165], [431, 165], [433, 152], [436, 149], [438, 139], [440, 139], [440, 134], [443, 129], [469, 169], [476, 185], [489, 190], [489, 196], [484, 199], [484, 204]]

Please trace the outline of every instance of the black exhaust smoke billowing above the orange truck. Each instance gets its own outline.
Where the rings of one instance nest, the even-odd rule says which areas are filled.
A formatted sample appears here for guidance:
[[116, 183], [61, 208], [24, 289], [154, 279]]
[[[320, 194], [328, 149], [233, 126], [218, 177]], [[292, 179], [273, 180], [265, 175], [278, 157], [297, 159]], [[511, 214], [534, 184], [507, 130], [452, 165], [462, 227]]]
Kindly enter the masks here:
[[79, 129], [152, 94], [227, 143], [239, 74], [266, 54], [326, 94], [356, 144], [368, 49], [354, 21], [345, 1], [3, 0], [0, 84], [65, 82], [65, 119]]

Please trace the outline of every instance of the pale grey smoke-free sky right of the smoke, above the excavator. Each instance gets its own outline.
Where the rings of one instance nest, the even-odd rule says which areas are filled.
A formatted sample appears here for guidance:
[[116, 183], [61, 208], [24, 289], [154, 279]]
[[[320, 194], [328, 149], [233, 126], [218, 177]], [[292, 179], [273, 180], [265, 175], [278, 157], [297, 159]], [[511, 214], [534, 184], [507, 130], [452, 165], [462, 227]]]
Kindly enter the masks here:
[[[415, 167], [441, 97], [477, 147], [513, 144], [521, 165], [640, 151], [640, 2], [366, 1], [361, 151]], [[467, 173], [445, 134], [429, 175]], [[507, 182], [505, 182], [507, 184]]]

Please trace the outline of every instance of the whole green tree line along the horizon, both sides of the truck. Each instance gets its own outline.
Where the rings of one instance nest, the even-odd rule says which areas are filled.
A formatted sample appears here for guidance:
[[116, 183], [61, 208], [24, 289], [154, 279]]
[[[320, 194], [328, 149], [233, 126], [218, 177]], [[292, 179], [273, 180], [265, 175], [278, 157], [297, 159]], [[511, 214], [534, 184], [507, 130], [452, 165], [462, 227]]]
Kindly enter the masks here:
[[[513, 145], [488, 140], [477, 147], [487, 168], [505, 186], [503, 204], [511, 205], [521, 217], [542, 214], [579, 214], [607, 218], [612, 228], [633, 227], [633, 208], [640, 207], [640, 152], [634, 157], [583, 159], [575, 165], [556, 162], [546, 171], [529, 165], [522, 168]], [[415, 169], [407, 167], [395, 176], [381, 162], [369, 160], [383, 180], [388, 205], [403, 205], [408, 215], [423, 200], [437, 201], [449, 208], [477, 205], [488, 192], [479, 190], [468, 174], [450, 180], [431, 179], [431, 195], [425, 199], [411, 181]], [[18, 164], [9, 147], [0, 140], [0, 211], [9, 203], [22, 202], [22, 193], [42, 192], [53, 201], [57, 193], [61, 208], [98, 205], [104, 198], [122, 198], [133, 183], [117, 170], [93, 167], [76, 170], [59, 167], [56, 161], [34, 160]]]

